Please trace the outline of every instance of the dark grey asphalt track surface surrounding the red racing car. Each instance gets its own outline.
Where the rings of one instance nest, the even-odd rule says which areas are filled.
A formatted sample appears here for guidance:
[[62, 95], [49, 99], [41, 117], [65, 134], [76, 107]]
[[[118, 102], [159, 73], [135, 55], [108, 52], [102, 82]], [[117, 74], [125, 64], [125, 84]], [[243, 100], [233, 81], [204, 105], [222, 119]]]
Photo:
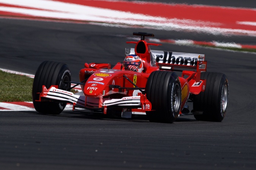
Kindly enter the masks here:
[[[85, 62], [115, 64], [124, 57], [122, 36], [154, 33], [166, 39], [210, 35], [97, 25], [0, 19], [0, 68], [35, 74], [44, 60], [67, 63], [78, 80]], [[251, 37], [228, 39], [253, 40]], [[152, 47], [206, 54], [207, 71], [225, 73], [229, 103], [222, 122], [179, 117], [173, 124], [146, 117], [107, 118], [66, 111], [57, 116], [0, 112], [0, 169], [255, 169], [256, 54], [163, 44]]]

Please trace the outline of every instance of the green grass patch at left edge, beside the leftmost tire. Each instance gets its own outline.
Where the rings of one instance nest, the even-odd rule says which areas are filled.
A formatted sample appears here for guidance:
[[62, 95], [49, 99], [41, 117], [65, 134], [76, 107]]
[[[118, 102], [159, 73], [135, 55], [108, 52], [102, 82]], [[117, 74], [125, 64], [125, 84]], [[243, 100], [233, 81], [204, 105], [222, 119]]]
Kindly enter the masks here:
[[0, 102], [31, 102], [33, 80], [0, 71]]

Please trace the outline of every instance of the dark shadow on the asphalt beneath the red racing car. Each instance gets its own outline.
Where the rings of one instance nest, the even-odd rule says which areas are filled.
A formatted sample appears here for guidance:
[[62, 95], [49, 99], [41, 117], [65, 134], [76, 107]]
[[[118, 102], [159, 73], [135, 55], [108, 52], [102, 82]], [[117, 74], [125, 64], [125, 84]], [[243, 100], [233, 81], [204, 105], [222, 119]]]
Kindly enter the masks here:
[[[102, 113], [83, 112], [83, 111], [63, 111], [60, 114], [41, 114], [36, 111], [20, 111], [20, 112], [28, 113], [28, 114], [38, 114], [42, 116], [58, 116], [58, 117], [69, 117], [69, 118], [79, 118], [79, 119], [149, 123], [148, 117], [146, 115], [133, 115], [132, 118], [122, 118], [121, 115], [110, 116], [110, 115], [104, 115]], [[177, 117], [175, 122], [195, 122], [195, 121], [196, 119]]]

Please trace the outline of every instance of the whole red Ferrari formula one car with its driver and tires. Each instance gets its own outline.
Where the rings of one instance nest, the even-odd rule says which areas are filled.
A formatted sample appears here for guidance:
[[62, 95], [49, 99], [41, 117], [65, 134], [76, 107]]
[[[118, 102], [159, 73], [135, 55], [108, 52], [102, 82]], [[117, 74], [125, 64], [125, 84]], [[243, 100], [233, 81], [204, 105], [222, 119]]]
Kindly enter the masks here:
[[[64, 63], [45, 61], [35, 74], [33, 104], [39, 113], [60, 114], [67, 103], [122, 117], [146, 114], [151, 122], [174, 122], [179, 115], [194, 114], [197, 120], [223, 120], [228, 105], [225, 74], [206, 72], [204, 54], [151, 50], [145, 37], [126, 48], [125, 59], [113, 68], [108, 63], [85, 63], [80, 70], [82, 92], [72, 93], [71, 74]], [[181, 76], [177, 76], [178, 71]], [[176, 73], [177, 72], [177, 73]], [[193, 102], [188, 110], [187, 102]]]

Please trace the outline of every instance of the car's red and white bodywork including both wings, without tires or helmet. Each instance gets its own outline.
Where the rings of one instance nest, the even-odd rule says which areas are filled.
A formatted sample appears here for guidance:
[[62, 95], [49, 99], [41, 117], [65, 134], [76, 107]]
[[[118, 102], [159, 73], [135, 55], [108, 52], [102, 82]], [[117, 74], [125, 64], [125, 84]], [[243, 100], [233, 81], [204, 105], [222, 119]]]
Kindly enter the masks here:
[[[159, 46], [157, 43], [147, 43], [143, 36], [154, 36], [147, 33], [133, 33], [140, 35], [141, 40], [134, 43], [135, 48], [126, 48], [125, 56], [135, 54], [143, 61], [143, 72], [124, 70], [122, 63], [118, 62], [113, 68], [108, 63], [85, 63], [85, 68], [80, 70], [79, 79], [83, 94], [73, 94], [69, 91], [52, 86], [47, 89], [42, 87], [39, 100], [52, 100], [61, 103], [73, 104], [75, 107], [89, 110], [102, 110], [105, 114], [108, 108], [119, 107], [122, 114], [144, 114], [152, 111], [152, 104], [146, 98], [144, 90], [148, 77], [153, 71], [181, 71], [179, 77], [181, 84], [181, 108], [188, 102], [190, 94], [199, 94], [205, 90], [206, 80], [200, 79], [201, 71], [206, 71], [207, 62], [203, 54], [177, 53], [170, 51], [151, 50], [150, 45]], [[190, 70], [190, 71], [188, 71]], [[79, 83], [81, 84], [81, 83]]]

